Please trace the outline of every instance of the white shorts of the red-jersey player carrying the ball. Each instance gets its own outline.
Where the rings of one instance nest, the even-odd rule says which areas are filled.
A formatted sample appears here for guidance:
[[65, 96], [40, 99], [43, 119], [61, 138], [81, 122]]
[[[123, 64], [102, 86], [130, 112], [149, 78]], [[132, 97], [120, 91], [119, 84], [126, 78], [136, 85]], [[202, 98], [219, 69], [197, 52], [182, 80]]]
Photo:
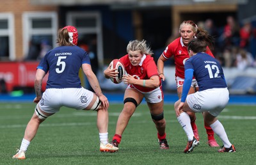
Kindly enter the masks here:
[[[129, 88], [138, 90], [137, 88], [135, 88], [134, 86], [131, 86], [131, 85], [127, 86], [127, 89], [129, 89]], [[138, 91], [140, 91], [140, 90], [138, 90]], [[142, 93], [144, 95], [146, 102], [158, 103], [163, 100], [163, 91], [161, 90], [160, 87], [158, 87], [152, 91], [148, 91], [148, 92], [140, 91], [140, 93]]]

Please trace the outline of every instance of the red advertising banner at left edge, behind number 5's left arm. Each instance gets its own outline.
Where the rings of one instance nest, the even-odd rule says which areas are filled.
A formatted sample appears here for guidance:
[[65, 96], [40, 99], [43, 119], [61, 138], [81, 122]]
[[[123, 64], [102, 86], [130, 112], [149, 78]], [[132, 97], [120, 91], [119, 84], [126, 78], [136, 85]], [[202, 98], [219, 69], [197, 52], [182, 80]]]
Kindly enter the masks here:
[[[13, 87], [34, 87], [36, 67], [39, 62], [0, 62], [0, 79], [4, 79], [7, 91]], [[42, 83], [42, 90], [45, 90], [48, 74]]]

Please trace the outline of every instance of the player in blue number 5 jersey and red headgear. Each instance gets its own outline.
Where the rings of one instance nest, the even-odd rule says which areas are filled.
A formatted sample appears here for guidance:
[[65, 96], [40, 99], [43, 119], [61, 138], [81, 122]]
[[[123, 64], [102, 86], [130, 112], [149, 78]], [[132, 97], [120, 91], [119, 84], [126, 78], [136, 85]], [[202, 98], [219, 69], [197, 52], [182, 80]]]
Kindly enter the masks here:
[[[45, 54], [37, 67], [35, 75], [36, 103], [35, 113], [29, 121], [19, 151], [13, 159], [26, 159], [25, 153], [40, 123], [60, 107], [97, 111], [100, 151], [115, 152], [116, 146], [108, 143], [108, 107], [109, 102], [92, 71], [87, 52], [77, 46], [78, 33], [74, 26], [66, 26], [58, 31], [59, 47]], [[81, 86], [79, 69], [82, 68], [95, 93]], [[42, 94], [42, 80], [49, 72], [47, 86]]]

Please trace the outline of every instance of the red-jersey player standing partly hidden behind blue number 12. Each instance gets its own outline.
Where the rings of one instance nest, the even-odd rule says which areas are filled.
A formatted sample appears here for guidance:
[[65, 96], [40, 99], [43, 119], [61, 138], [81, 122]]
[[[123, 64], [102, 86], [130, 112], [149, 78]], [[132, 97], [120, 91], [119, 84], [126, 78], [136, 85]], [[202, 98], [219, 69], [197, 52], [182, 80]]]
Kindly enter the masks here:
[[[173, 42], [171, 42], [166, 47], [164, 52], [161, 54], [161, 56], [157, 60], [157, 68], [158, 68], [159, 76], [164, 81], [164, 79], [165, 79], [165, 77], [164, 77], [164, 62], [173, 56], [174, 61], [175, 61], [175, 80], [177, 83], [177, 94], [178, 94], [179, 98], [181, 97], [183, 83], [184, 83], [184, 64], [185, 64], [186, 60], [189, 58], [188, 49], [187, 49], [188, 43], [191, 40], [193, 40], [193, 38], [196, 38], [196, 34], [199, 31], [204, 31], [204, 29], [198, 28], [196, 26], [195, 22], [193, 22], [192, 20], [183, 21], [180, 24], [180, 28], [179, 28], [180, 37], [173, 40]], [[211, 55], [212, 57], [214, 57], [212, 55], [210, 48], [212, 48], [212, 45], [208, 45], [205, 52], [207, 54]], [[189, 94], [195, 93], [196, 91], [198, 91], [198, 84], [197, 84], [196, 80], [193, 79], [191, 88], [189, 90]], [[199, 139], [198, 130], [197, 130], [196, 123], [195, 123], [195, 120], [196, 120], [195, 113], [194, 113], [194, 115], [191, 114], [191, 116], [193, 116], [193, 117], [191, 117], [191, 125], [193, 128], [193, 132], [194, 132], [196, 138]], [[207, 136], [208, 136], [209, 146], [212, 146], [212, 147], [219, 146], [218, 143], [216, 142], [216, 140], [214, 139], [213, 130], [211, 129], [211, 127], [209, 125], [207, 125], [207, 123], [205, 123], [205, 129], [206, 129]]]

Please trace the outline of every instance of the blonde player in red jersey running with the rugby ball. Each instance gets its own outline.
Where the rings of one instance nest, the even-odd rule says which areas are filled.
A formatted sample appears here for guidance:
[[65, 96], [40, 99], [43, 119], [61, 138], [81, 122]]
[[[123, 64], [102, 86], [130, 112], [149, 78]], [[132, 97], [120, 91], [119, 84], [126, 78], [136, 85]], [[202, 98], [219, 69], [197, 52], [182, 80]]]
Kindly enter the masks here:
[[[152, 120], [156, 125], [159, 146], [161, 149], [168, 149], [163, 110], [163, 91], [157, 66], [154, 58], [152, 58], [153, 53], [145, 40], [129, 42], [127, 53], [120, 58], [127, 72], [122, 77], [122, 81], [127, 84], [127, 88], [124, 93], [124, 108], [118, 117], [112, 144], [119, 145], [132, 114], [145, 98]], [[118, 76], [116, 68], [111, 69], [110, 65], [104, 70], [104, 75], [108, 79]]]

